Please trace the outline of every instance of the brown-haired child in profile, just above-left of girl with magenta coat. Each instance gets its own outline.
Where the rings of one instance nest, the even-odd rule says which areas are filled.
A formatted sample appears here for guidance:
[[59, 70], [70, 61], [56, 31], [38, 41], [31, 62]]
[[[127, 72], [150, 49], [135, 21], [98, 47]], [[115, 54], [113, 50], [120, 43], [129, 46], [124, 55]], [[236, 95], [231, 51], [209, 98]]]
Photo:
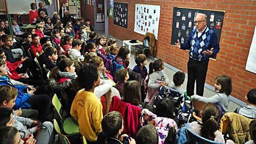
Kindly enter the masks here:
[[115, 77], [117, 79], [117, 83], [115, 85], [115, 88], [119, 91], [120, 96], [123, 96], [123, 88], [124, 88], [124, 84], [125, 82], [129, 79], [129, 74], [127, 69], [119, 69], [116, 73], [115, 73]]

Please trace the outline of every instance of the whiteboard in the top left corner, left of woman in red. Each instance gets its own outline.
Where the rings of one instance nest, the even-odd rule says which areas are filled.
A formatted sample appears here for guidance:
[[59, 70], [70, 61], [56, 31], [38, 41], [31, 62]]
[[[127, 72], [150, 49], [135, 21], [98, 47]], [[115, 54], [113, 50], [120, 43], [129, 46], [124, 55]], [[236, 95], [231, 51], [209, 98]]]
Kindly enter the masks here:
[[30, 3], [36, 3], [35, 0], [6, 0], [9, 14], [28, 14]]

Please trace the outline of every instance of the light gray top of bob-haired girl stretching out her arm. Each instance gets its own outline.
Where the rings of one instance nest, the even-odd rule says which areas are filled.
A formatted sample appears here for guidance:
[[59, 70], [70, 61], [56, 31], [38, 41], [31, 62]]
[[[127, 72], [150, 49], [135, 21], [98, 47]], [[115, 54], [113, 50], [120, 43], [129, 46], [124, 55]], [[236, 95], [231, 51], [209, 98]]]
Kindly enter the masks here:
[[225, 93], [217, 93], [212, 97], [201, 97], [199, 95], [193, 95], [194, 99], [204, 103], [218, 103], [221, 106], [224, 113], [228, 112], [229, 97]]

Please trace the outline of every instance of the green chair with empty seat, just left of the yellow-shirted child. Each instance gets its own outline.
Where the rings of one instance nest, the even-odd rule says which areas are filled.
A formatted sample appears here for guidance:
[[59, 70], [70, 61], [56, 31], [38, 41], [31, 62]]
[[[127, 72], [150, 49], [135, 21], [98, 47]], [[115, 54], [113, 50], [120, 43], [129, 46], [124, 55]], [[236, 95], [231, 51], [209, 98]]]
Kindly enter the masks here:
[[56, 111], [56, 113], [58, 114], [59, 118], [61, 119], [62, 123], [63, 123], [63, 131], [66, 134], [78, 134], [79, 133], [79, 125], [77, 123], [76, 120], [74, 120], [74, 118], [72, 117], [68, 117], [63, 119], [60, 111], [61, 111], [61, 102], [58, 99], [57, 95], [54, 94], [54, 96], [52, 97], [52, 104], [54, 106], [54, 109]]

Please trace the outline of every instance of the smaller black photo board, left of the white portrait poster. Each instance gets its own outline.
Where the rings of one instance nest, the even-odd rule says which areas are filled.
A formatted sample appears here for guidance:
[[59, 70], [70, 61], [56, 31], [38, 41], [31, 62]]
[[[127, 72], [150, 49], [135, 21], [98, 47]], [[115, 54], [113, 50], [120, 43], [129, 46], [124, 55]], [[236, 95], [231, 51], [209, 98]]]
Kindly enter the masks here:
[[128, 26], [128, 3], [114, 2], [114, 24], [127, 29], [127, 26]]

